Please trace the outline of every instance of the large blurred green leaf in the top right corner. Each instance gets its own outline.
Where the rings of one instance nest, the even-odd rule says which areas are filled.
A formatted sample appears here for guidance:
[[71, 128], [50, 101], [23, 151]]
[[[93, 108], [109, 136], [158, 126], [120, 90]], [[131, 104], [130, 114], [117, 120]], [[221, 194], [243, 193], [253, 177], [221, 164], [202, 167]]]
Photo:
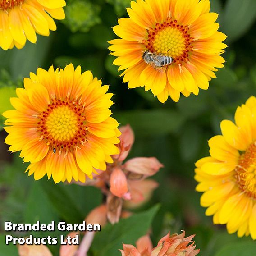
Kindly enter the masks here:
[[256, 19], [255, 0], [228, 0], [223, 15], [222, 31], [228, 35], [227, 42], [242, 37]]

